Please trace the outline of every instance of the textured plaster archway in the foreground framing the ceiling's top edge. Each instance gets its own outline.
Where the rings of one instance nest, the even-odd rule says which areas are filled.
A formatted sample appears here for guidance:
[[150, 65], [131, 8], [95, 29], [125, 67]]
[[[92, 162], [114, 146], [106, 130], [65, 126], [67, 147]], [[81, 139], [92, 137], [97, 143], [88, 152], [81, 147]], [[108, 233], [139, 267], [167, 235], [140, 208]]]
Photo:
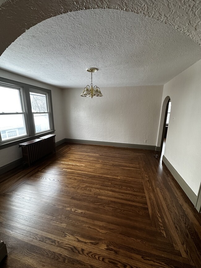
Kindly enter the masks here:
[[169, 24], [201, 44], [200, 0], [7, 0], [0, 6], [0, 55], [23, 32], [45, 19], [96, 8], [143, 14]]

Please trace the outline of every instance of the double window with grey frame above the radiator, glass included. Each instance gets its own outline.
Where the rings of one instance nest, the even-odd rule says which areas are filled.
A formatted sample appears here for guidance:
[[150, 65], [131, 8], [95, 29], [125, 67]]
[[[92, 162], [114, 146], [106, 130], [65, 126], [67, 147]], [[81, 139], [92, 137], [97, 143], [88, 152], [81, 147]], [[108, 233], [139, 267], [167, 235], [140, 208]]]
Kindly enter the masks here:
[[53, 132], [51, 91], [0, 78], [0, 147]]

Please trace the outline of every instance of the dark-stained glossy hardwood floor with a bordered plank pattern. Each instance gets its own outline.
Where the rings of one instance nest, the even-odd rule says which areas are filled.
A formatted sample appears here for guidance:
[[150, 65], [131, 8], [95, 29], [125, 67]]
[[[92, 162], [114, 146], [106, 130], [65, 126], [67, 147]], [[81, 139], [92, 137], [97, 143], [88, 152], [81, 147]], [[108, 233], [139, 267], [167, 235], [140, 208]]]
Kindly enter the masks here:
[[154, 154], [63, 144], [0, 176], [0, 267], [201, 267], [200, 214]]

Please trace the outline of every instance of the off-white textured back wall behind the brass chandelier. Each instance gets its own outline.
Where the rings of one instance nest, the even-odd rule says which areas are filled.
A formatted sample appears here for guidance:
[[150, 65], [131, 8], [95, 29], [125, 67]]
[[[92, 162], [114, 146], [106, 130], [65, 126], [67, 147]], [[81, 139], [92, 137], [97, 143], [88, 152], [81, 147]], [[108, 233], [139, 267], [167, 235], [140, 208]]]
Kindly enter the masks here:
[[[156, 145], [163, 86], [101, 88], [104, 97], [64, 91], [66, 138]], [[144, 143], [144, 140], [147, 143]]]

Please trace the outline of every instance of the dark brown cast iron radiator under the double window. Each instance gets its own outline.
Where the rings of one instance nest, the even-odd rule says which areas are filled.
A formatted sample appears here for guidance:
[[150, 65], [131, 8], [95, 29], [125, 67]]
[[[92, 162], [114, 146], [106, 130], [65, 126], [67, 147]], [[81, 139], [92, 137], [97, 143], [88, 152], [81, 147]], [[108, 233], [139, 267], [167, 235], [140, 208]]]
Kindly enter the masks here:
[[25, 143], [20, 143], [24, 162], [30, 167], [45, 155], [55, 152], [55, 134], [46, 135], [38, 139], [34, 139]]

